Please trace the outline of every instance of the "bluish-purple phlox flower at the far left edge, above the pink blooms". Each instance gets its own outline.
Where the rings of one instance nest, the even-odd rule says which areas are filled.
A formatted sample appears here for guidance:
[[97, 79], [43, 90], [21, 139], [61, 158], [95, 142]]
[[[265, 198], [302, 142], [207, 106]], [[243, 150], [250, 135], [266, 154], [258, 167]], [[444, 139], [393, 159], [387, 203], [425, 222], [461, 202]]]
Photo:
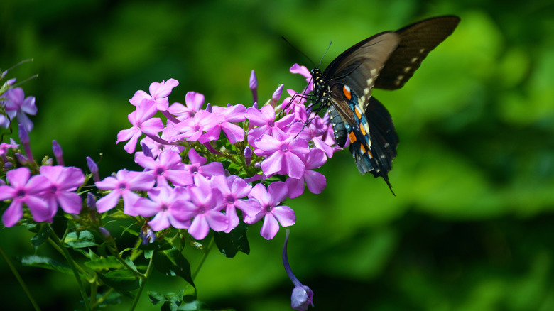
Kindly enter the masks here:
[[30, 132], [33, 130], [33, 121], [29, 119], [27, 114], [35, 115], [37, 108], [35, 105], [35, 97], [29, 96], [25, 97], [25, 93], [21, 87], [16, 87], [15, 89], [8, 89], [5, 94], [6, 100], [1, 102], [1, 105], [4, 107], [4, 111], [8, 116], [8, 119], [5, 118], [3, 114], [2, 119], [0, 119], [0, 126], [8, 127], [10, 120], [13, 120], [17, 116], [19, 124], [23, 124], [23, 127], [26, 131]]

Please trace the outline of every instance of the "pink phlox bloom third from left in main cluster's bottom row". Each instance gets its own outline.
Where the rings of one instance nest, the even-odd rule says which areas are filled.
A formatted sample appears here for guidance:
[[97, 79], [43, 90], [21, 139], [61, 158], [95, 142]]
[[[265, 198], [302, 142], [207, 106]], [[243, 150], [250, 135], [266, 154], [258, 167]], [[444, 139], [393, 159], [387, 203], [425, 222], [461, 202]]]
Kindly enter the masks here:
[[188, 233], [197, 240], [204, 239], [210, 228], [214, 231], [224, 231], [229, 227], [229, 219], [221, 212], [225, 207], [223, 196], [219, 190], [210, 185], [203, 176], [195, 178], [195, 186], [189, 187], [190, 200], [185, 202], [185, 209], [194, 215]]

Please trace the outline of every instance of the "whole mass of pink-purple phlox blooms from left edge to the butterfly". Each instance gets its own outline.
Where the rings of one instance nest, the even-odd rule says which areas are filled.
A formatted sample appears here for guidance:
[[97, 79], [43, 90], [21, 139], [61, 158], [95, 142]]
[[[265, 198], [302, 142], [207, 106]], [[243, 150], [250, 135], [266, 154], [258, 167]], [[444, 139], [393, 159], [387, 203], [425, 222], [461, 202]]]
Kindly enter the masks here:
[[[290, 71], [310, 81], [305, 67], [294, 65]], [[254, 72], [250, 82], [254, 104], [249, 107], [205, 106], [204, 96], [195, 92], [186, 94], [185, 104], [170, 104], [168, 96], [178, 85], [174, 79], [152, 83], [149, 94], [136, 92], [129, 99], [135, 107], [129, 114], [132, 126], [120, 131], [116, 142], [127, 141], [124, 150], [134, 153], [135, 162], [144, 169], [119, 170], [104, 180], [95, 176], [103, 196], [96, 202], [87, 200], [89, 207], [104, 213], [122, 199], [124, 213], [146, 217], [154, 231], [188, 229], [195, 239], [204, 239], [210, 229], [229, 232], [237, 227], [239, 217], [246, 224], [264, 219], [261, 235], [265, 239], [273, 239], [280, 225], [295, 224], [295, 212], [282, 203], [302, 195], [305, 187], [313, 193], [325, 188], [325, 176], [315, 169], [338, 149], [332, 127], [327, 115], [311, 112], [303, 96], [292, 90], [278, 104], [283, 85], [266, 104], [257, 103]], [[311, 85], [303, 94], [310, 90]], [[26, 134], [32, 123], [28, 125], [23, 112], [36, 113], [36, 107], [28, 109], [31, 102], [34, 107], [34, 98], [25, 99], [21, 89], [7, 93], [2, 105], [21, 111], [17, 116], [25, 125], [19, 129]], [[8, 124], [15, 115], [7, 114], [9, 120], [0, 121]], [[142, 148], [136, 152], [141, 137]], [[26, 141], [21, 139], [23, 145]], [[43, 165], [36, 175], [25, 167], [8, 170], [7, 183], [0, 180], [0, 200], [12, 200], [2, 217], [6, 227], [21, 219], [23, 204], [37, 222], [51, 222], [58, 207], [67, 213], [80, 212], [82, 198], [76, 191], [85, 174], [63, 166], [61, 148], [57, 146], [56, 154], [56, 146], [58, 165]], [[17, 145], [2, 143], [0, 155], [10, 148]], [[28, 153], [18, 160], [32, 162], [30, 149]], [[9, 161], [4, 159], [4, 164]], [[94, 163], [89, 163], [94, 173], [92, 167]]]

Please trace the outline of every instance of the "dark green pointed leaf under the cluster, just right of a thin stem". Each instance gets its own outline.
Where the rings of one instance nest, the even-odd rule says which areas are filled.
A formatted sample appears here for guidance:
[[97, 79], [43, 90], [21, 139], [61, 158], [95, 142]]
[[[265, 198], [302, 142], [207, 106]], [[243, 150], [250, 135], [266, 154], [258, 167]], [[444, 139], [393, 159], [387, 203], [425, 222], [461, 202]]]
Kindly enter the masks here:
[[190, 264], [175, 247], [168, 251], [153, 253], [153, 264], [156, 270], [167, 276], [179, 276], [190, 285], [195, 286], [190, 275]]

